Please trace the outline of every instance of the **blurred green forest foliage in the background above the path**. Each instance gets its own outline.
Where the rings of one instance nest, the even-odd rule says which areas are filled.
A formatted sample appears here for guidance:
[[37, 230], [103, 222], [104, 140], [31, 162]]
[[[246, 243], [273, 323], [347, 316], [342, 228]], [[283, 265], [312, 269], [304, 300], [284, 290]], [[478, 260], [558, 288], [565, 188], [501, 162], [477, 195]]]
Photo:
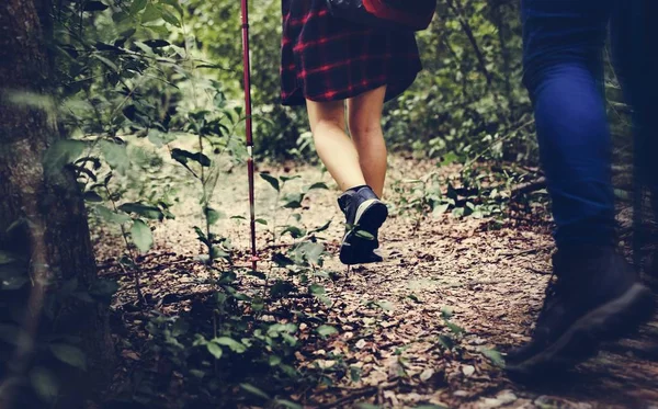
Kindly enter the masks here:
[[[241, 105], [240, 4], [172, 4], [179, 3], [58, 12], [69, 19], [59, 21], [58, 34], [63, 98], [76, 105], [70, 126], [93, 134], [101, 121], [109, 134], [174, 134], [189, 130], [183, 118], [191, 112]], [[279, 104], [280, 7], [251, 3], [257, 151], [311, 158], [305, 112]], [[419, 43], [424, 71], [386, 107], [390, 144], [430, 157], [494, 147], [491, 157], [532, 160], [531, 128], [517, 130], [530, 121], [517, 2], [441, 2]]]

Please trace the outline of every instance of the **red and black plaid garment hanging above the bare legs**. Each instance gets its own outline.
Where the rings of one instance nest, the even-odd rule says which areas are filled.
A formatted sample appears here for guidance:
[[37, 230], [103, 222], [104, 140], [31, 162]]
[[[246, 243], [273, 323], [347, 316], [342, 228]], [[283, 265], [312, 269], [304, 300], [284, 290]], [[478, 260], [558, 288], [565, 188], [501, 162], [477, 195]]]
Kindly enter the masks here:
[[333, 18], [326, 0], [282, 0], [281, 96], [284, 105], [305, 100], [345, 100], [387, 86], [399, 95], [421, 69], [413, 33], [370, 29]]

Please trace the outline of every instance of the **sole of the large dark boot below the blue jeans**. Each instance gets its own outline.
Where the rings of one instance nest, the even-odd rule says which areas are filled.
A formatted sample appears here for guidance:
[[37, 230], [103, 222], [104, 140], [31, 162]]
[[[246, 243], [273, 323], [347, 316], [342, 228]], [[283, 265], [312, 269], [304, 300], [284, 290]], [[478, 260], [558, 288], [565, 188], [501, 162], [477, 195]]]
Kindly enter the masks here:
[[620, 297], [578, 319], [548, 348], [518, 364], [507, 365], [512, 375], [560, 371], [593, 356], [601, 341], [613, 341], [648, 321], [655, 308], [649, 288], [634, 284]]

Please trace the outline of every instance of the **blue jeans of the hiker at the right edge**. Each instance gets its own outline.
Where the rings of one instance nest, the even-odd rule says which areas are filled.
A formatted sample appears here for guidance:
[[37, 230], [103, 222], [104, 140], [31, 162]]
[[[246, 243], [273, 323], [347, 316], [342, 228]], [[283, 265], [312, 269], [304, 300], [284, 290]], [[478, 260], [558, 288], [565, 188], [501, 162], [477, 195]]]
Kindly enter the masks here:
[[622, 55], [634, 38], [624, 7], [616, 0], [521, 1], [523, 81], [533, 102], [558, 247], [615, 243], [612, 143], [602, 86], [609, 25], [619, 56], [613, 59], [621, 63], [615, 68], [632, 79], [623, 81], [626, 94], [633, 99], [642, 87]]

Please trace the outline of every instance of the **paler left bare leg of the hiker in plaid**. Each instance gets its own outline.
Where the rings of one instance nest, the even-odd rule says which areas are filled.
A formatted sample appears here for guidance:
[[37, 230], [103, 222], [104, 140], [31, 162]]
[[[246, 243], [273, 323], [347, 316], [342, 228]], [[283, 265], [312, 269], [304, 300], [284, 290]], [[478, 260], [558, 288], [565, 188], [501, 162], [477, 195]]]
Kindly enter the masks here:
[[365, 183], [359, 154], [345, 134], [344, 101], [306, 101], [318, 156], [341, 191]]

